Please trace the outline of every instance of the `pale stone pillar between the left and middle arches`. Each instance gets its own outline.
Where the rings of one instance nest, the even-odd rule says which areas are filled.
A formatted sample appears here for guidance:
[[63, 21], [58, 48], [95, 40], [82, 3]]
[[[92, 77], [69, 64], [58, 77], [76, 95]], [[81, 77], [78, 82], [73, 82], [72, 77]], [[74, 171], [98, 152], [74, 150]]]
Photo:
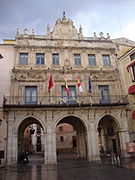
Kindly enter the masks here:
[[45, 164], [56, 164], [56, 133], [52, 125], [47, 125], [47, 133], [45, 135]]

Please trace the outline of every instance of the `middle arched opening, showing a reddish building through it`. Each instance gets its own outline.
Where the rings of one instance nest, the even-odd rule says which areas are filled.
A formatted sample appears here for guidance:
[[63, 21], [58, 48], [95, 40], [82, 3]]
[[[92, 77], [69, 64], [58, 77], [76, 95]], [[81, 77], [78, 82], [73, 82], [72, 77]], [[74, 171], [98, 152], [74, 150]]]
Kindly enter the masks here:
[[81, 119], [67, 116], [56, 125], [57, 156], [69, 153], [72, 157], [87, 158], [87, 130]]

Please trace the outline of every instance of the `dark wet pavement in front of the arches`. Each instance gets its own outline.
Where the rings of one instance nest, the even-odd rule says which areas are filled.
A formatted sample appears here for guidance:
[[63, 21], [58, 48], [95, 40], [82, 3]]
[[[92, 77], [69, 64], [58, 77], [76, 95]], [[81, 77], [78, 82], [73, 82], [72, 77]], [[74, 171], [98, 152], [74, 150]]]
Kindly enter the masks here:
[[[41, 161], [40, 161], [41, 160]], [[135, 167], [135, 166], [134, 166]], [[133, 168], [134, 169], [134, 168]], [[29, 164], [0, 169], [0, 180], [135, 180], [135, 170], [88, 162], [61, 155], [58, 164], [46, 166], [38, 157]]]

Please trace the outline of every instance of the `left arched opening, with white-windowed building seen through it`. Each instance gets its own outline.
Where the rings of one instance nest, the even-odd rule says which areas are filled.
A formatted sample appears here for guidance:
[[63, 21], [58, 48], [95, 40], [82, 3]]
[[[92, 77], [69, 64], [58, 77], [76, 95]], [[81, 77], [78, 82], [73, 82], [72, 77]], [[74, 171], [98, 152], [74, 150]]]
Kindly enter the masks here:
[[28, 154], [29, 162], [44, 163], [44, 129], [33, 117], [23, 120], [18, 128], [18, 163]]

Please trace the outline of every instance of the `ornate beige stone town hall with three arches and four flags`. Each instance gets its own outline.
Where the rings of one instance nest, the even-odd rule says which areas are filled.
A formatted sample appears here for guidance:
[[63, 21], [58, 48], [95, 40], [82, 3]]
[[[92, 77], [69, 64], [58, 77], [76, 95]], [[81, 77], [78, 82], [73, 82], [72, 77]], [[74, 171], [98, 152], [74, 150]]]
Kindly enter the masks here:
[[56, 128], [63, 123], [75, 131], [77, 157], [96, 161], [103, 149], [128, 156], [128, 100], [109, 34], [85, 37], [63, 13], [45, 35], [18, 29], [0, 53], [3, 163], [18, 162], [33, 124], [42, 129], [45, 164], [57, 163]]

